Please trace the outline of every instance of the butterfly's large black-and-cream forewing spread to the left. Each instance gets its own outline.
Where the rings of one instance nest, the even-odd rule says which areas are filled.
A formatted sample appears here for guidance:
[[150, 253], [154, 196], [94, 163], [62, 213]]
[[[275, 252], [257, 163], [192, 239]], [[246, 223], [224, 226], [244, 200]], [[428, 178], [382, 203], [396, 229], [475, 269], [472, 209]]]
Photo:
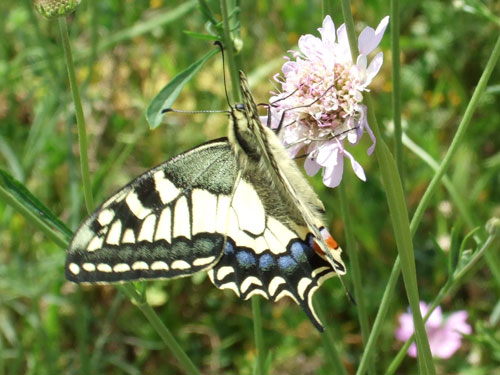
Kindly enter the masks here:
[[235, 176], [226, 139], [147, 171], [82, 223], [68, 249], [67, 279], [174, 278], [211, 268], [223, 252]]

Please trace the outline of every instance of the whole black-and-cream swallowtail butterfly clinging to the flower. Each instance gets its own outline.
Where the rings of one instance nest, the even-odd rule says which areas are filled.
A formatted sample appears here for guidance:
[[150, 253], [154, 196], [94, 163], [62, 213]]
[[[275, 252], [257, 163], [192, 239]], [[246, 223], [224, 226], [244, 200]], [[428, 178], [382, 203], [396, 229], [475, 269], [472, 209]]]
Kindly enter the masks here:
[[137, 177], [77, 230], [66, 277], [112, 283], [208, 271], [243, 299], [288, 296], [322, 330], [318, 287], [345, 274], [324, 207], [278, 137], [262, 125], [243, 73], [244, 104], [228, 138], [186, 151]]

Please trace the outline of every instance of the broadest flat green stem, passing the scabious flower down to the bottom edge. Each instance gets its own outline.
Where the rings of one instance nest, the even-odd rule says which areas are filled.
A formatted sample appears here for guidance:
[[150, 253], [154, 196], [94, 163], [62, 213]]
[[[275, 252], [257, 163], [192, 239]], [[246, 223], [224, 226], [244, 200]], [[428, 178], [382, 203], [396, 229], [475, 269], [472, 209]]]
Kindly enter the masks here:
[[[349, 46], [354, 61], [357, 57], [357, 41], [354, 32], [354, 21], [352, 19], [350, 3], [348, 0], [342, 0], [341, 4], [349, 39]], [[413, 315], [413, 323], [415, 326], [416, 341], [419, 351], [419, 360], [421, 360], [422, 363], [421, 371], [424, 374], [434, 375], [436, 370], [432, 361], [432, 354], [429, 346], [429, 340], [427, 339], [424, 322], [422, 320], [422, 315], [420, 314], [420, 301], [417, 287], [413, 243], [410, 234], [408, 209], [406, 206], [401, 177], [398, 173], [394, 158], [392, 157], [389, 148], [387, 147], [381, 136], [369, 95], [366, 95], [366, 104], [369, 123], [371, 124], [371, 128], [375, 134], [375, 137], [377, 138], [377, 147], [375, 149], [375, 154], [380, 165], [382, 182], [386, 191], [386, 198], [391, 214], [390, 216], [394, 237], [396, 239], [397, 250], [399, 256], [401, 257], [403, 280], [405, 283], [406, 294], [408, 296], [408, 302], [410, 304]]]

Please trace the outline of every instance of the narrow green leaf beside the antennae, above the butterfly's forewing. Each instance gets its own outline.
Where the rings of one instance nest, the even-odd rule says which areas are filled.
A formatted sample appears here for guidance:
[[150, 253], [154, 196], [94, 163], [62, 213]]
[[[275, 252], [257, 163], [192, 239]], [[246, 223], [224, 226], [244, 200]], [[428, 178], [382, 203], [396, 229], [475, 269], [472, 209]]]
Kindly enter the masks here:
[[162, 111], [166, 108], [172, 107], [172, 104], [174, 104], [184, 85], [188, 83], [198, 70], [200, 70], [203, 64], [205, 64], [208, 59], [210, 59], [217, 52], [219, 52], [218, 49], [211, 50], [200, 60], [196, 61], [186, 70], [175, 76], [172, 81], [161, 89], [158, 95], [156, 95], [156, 97], [151, 101], [151, 104], [146, 111], [146, 119], [148, 120], [149, 127], [151, 129], [160, 125], [163, 117]]

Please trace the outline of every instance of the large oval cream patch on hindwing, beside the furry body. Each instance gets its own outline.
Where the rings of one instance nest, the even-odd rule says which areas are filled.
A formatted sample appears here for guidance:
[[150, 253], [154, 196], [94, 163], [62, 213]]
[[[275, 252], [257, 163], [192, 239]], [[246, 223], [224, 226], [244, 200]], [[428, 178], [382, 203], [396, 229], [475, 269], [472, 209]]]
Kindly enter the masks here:
[[241, 180], [234, 192], [232, 206], [238, 215], [240, 229], [255, 235], [262, 234], [266, 213], [257, 192], [248, 182]]

